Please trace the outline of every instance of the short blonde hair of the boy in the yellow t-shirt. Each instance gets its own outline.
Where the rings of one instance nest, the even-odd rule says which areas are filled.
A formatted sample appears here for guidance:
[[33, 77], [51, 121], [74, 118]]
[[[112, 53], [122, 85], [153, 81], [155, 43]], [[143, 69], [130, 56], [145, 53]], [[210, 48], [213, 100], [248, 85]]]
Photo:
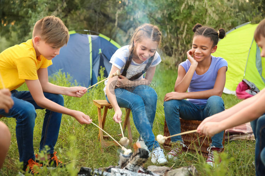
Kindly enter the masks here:
[[60, 48], [69, 40], [69, 32], [63, 21], [55, 16], [47, 16], [36, 22], [32, 37], [40, 35], [40, 38], [54, 47]]

